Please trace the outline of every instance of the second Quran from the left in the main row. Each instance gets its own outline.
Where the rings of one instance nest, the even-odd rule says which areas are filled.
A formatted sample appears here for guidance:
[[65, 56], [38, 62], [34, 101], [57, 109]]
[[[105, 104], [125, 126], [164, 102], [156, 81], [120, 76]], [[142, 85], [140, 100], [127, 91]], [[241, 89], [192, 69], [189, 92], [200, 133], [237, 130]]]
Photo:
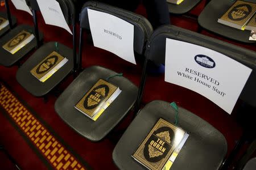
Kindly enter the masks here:
[[3, 49], [7, 50], [7, 52], [10, 52], [11, 54], [15, 54], [19, 49], [23, 48], [23, 46], [32, 41], [34, 37], [35, 36], [32, 33], [23, 30], [5, 45], [3, 45]]

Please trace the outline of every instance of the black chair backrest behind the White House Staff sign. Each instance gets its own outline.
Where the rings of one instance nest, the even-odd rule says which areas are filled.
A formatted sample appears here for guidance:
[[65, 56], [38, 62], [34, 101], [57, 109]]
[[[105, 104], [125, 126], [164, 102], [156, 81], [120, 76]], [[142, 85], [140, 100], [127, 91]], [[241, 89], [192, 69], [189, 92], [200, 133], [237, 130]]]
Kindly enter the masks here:
[[[256, 107], [256, 53], [241, 48], [236, 45], [228, 44], [220, 40], [216, 40], [199, 33], [189, 31], [187, 29], [175, 27], [172, 25], [165, 25], [157, 29], [148, 41], [146, 50], [147, 58], [155, 63], [165, 63], [166, 56], [166, 39], [174, 39], [191, 44], [203, 46], [208, 49], [212, 49], [218, 53], [222, 53], [243, 65], [250, 67], [251, 72], [249, 79], [247, 80], [245, 87], [243, 88], [240, 99], [245, 101], [253, 107]], [[228, 67], [228, 66], [227, 66]]]

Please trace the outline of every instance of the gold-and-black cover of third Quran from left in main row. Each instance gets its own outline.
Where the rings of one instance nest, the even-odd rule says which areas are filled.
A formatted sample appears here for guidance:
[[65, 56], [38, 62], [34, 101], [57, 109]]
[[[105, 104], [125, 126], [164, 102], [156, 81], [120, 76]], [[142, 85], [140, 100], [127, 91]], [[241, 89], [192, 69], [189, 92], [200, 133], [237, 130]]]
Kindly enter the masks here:
[[[44, 78], [44, 76], [47, 75], [52, 69], [55, 69], [55, 67], [59, 65], [59, 63], [62, 62], [63, 60], [64, 60], [63, 56], [53, 51], [46, 58], [44, 58], [38, 65], [36, 65], [30, 71], [30, 73], [40, 80]], [[47, 78], [49, 77], [47, 76]], [[46, 79], [43, 79], [42, 81], [44, 82], [44, 80]]]

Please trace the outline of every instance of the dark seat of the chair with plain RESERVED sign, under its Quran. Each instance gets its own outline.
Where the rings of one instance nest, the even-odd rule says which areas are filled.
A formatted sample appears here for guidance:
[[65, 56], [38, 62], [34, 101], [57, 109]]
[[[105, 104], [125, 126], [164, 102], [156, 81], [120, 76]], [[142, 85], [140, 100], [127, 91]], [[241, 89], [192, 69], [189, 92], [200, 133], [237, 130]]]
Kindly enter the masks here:
[[91, 120], [75, 109], [74, 106], [98, 79], [106, 79], [115, 74], [117, 73], [104, 67], [88, 67], [77, 76], [56, 100], [55, 111], [57, 114], [77, 133], [90, 141], [96, 142], [104, 138], [130, 111], [137, 99], [137, 86], [122, 76], [115, 76], [109, 79], [109, 82], [117, 85], [122, 92], [97, 121]]

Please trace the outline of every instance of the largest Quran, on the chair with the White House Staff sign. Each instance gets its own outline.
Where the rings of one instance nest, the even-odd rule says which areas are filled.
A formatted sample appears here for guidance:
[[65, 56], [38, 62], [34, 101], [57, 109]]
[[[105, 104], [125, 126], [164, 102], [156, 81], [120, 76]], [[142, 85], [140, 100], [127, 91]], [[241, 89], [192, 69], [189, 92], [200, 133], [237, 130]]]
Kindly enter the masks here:
[[160, 118], [132, 157], [148, 169], [168, 169], [187, 140], [185, 134], [183, 129]]

